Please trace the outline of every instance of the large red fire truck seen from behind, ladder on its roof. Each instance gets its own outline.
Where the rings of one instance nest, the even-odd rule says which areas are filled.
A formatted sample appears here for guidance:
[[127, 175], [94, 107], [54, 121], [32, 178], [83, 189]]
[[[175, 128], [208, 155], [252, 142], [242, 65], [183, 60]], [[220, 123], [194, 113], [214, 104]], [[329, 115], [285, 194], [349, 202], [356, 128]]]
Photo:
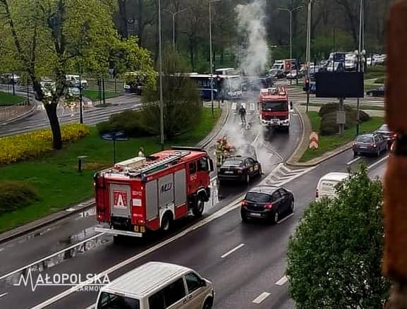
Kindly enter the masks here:
[[[120, 162], [94, 176], [96, 231], [142, 237], [169, 231], [174, 220], [202, 215], [212, 159], [197, 147], [172, 147]], [[116, 238], [115, 238], [116, 239]]]

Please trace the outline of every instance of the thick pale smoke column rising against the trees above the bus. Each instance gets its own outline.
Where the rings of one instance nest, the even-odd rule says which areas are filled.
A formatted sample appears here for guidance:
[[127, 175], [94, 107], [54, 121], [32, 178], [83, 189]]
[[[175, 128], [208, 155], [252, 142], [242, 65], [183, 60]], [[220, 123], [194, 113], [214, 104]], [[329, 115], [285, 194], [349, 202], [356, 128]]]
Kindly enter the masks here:
[[245, 37], [241, 55], [241, 71], [245, 75], [260, 75], [269, 61], [265, 28], [265, 0], [236, 6], [238, 31]]

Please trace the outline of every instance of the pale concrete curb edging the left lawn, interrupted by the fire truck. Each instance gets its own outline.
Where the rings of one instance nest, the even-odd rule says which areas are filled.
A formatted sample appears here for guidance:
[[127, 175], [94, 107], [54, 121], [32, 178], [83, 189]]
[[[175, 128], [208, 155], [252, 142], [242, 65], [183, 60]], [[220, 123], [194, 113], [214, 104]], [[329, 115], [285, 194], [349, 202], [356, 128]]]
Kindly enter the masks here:
[[[198, 143], [198, 147], [207, 147], [209, 143], [216, 138], [216, 136], [219, 134], [221, 129], [223, 128], [224, 124], [226, 123], [227, 119], [229, 118], [229, 105], [226, 104], [226, 108], [221, 109], [221, 116], [219, 117], [218, 123], [215, 125], [214, 129], [207, 135], [207, 137], [202, 140], [200, 143]], [[209, 138], [208, 138], [209, 137]], [[73, 214], [77, 214], [79, 212], [83, 212], [89, 207], [92, 207], [95, 204], [95, 200], [93, 198], [89, 200], [84, 200], [83, 202], [80, 202], [78, 205], [72, 205], [71, 207], [66, 208], [65, 210], [61, 210], [59, 212], [55, 212], [54, 214], [50, 214], [47, 217], [37, 219], [33, 222], [30, 222], [28, 224], [24, 224], [22, 226], [18, 226], [15, 229], [11, 229], [8, 231], [5, 231], [0, 234], [0, 243], [4, 243], [6, 241], [11, 240], [12, 238], [17, 238], [18, 236], [21, 236], [23, 234], [27, 234], [31, 231], [34, 231], [35, 229], [40, 229], [43, 226], [46, 226], [48, 224], [58, 222], [61, 219], [65, 219], [66, 217], [69, 217]]]

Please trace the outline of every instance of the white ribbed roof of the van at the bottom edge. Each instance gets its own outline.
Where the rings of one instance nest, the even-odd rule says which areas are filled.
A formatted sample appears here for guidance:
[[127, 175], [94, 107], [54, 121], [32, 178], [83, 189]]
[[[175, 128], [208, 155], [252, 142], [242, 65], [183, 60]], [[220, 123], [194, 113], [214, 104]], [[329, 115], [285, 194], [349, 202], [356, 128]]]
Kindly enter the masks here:
[[165, 262], [147, 262], [114, 279], [101, 291], [124, 293], [140, 299], [159, 289], [162, 284], [188, 272], [193, 272], [193, 269]]

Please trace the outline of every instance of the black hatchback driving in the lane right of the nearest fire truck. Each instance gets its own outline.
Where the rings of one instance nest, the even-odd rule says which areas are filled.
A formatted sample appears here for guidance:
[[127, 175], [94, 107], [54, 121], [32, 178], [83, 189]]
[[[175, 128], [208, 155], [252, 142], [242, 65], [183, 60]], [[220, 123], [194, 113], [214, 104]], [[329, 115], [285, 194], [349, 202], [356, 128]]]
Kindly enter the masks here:
[[249, 219], [265, 219], [275, 224], [282, 215], [293, 213], [294, 195], [286, 188], [277, 186], [257, 186], [246, 193], [241, 204], [243, 222]]

